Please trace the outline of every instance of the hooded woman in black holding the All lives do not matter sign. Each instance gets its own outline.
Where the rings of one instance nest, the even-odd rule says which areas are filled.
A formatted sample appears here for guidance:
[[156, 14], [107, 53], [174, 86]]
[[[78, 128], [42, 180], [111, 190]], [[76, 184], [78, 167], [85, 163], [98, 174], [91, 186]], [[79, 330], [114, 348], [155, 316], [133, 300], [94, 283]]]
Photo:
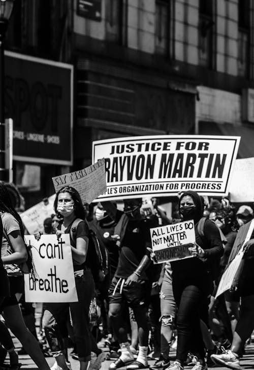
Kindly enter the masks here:
[[[217, 227], [209, 219], [204, 223], [204, 235], [200, 235], [203, 206], [196, 192], [181, 194], [179, 213], [182, 221], [194, 220], [196, 242], [189, 248], [192, 257], [171, 262], [173, 294], [178, 308], [178, 339], [176, 361], [169, 369], [182, 370], [190, 351], [198, 358], [193, 370], [207, 370], [200, 319], [208, 321], [207, 298], [212, 291], [213, 266], [223, 254], [223, 245]], [[204, 318], [206, 311], [207, 317]]]

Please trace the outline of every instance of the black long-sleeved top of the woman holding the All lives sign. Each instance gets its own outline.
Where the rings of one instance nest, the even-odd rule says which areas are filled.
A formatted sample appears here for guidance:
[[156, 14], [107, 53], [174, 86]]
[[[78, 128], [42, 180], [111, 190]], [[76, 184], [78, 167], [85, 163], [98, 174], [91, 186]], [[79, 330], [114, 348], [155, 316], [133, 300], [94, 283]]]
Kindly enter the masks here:
[[209, 219], [205, 221], [204, 238], [199, 235], [198, 223], [195, 224], [196, 243], [204, 249], [206, 261], [201, 261], [198, 257], [186, 258], [181, 261], [171, 262], [173, 274], [203, 275], [210, 271], [212, 260], [219, 259], [223, 254], [223, 244], [221, 242], [217, 226]]

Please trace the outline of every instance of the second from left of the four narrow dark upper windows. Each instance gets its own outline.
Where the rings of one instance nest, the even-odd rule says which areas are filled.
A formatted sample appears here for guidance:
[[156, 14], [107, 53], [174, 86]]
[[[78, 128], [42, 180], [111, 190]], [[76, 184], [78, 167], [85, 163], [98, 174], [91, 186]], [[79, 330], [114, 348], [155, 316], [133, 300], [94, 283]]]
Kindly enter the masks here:
[[169, 2], [156, 1], [155, 5], [155, 53], [168, 54]]

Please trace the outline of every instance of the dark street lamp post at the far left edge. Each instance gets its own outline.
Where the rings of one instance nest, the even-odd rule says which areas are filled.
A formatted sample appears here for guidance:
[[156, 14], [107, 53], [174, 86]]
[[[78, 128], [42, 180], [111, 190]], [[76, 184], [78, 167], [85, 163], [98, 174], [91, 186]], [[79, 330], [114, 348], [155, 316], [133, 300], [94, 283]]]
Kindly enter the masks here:
[[8, 180], [5, 165], [5, 56], [4, 40], [14, 0], [0, 0], [0, 180]]

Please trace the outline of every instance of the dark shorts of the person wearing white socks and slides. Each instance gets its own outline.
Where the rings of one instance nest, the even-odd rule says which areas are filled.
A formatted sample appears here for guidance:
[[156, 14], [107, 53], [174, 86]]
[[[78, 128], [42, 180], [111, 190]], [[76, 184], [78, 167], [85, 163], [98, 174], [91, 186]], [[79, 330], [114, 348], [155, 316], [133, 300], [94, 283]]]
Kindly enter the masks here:
[[151, 293], [151, 283], [139, 280], [136, 284], [126, 286], [124, 278], [113, 277], [109, 288], [109, 303], [122, 304], [123, 301], [131, 308], [148, 307]]

